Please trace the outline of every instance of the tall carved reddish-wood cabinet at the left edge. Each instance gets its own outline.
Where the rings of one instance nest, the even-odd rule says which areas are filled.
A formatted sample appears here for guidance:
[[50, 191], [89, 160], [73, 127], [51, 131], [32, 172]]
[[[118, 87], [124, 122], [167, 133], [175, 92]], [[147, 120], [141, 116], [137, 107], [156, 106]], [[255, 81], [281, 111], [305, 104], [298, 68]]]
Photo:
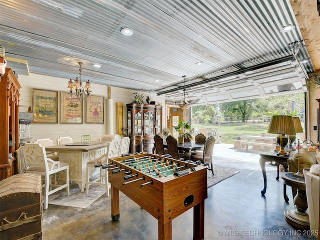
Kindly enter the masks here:
[[[0, 180], [16, 174], [14, 151], [19, 147], [19, 89], [11, 68], [0, 77]], [[13, 158], [9, 158], [9, 153]]]

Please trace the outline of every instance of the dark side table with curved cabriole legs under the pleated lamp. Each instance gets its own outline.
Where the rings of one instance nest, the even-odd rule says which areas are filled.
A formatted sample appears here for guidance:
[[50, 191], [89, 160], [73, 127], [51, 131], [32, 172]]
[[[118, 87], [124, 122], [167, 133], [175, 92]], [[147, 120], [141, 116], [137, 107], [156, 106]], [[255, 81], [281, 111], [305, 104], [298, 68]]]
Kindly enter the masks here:
[[265, 163], [269, 163], [271, 166], [276, 166], [277, 170], [277, 176], [275, 177], [276, 180], [279, 179], [279, 165], [282, 164], [284, 167], [284, 170], [287, 169], [287, 159], [289, 156], [282, 156], [282, 155], [277, 155], [276, 152], [272, 149], [269, 151], [264, 151], [260, 153], [260, 167], [262, 170], [262, 175], [263, 175], [263, 182], [264, 182], [264, 187], [261, 190], [261, 194], [264, 195], [266, 192], [266, 172], [265, 172]]

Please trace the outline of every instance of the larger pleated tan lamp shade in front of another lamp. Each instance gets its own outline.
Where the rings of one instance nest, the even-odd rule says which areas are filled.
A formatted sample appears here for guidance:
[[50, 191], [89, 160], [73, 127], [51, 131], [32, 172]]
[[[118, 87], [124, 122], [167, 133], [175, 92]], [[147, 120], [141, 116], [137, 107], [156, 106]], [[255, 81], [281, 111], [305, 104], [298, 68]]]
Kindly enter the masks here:
[[267, 132], [295, 135], [295, 128], [294, 128], [292, 116], [287, 116], [287, 115], [271, 116], [271, 120], [270, 120], [270, 124]]

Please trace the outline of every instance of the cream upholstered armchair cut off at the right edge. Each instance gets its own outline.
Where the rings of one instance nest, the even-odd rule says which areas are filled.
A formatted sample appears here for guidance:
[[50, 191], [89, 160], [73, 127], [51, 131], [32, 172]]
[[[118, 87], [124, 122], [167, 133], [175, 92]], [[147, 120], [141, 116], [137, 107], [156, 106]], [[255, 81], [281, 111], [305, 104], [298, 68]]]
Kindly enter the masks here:
[[[320, 164], [313, 164], [310, 172], [304, 173], [306, 200], [311, 232], [319, 232], [319, 189], [320, 189]], [[314, 234], [315, 235], [315, 234]], [[315, 237], [319, 239], [319, 234]]]

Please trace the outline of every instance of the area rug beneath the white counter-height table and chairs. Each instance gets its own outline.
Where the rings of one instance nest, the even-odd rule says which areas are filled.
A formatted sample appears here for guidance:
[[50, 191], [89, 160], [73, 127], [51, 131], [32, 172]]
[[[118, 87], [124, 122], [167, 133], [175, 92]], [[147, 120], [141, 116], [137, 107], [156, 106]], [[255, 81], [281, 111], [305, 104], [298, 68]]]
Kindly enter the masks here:
[[85, 189], [81, 192], [78, 184], [72, 182], [69, 196], [66, 195], [66, 189], [63, 188], [49, 195], [49, 204], [86, 208], [104, 193], [105, 186], [90, 185], [89, 194], [85, 194]]

